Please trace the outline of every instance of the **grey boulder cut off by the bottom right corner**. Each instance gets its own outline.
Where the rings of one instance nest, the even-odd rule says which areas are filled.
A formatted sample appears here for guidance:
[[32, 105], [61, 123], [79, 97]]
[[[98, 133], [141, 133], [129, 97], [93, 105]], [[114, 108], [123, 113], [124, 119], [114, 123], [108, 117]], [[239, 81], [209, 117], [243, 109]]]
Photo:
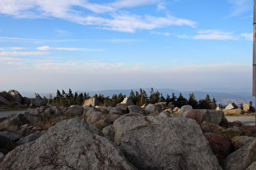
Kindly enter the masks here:
[[256, 140], [248, 142], [223, 160], [223, 169], [244, 170], [256, 161]]

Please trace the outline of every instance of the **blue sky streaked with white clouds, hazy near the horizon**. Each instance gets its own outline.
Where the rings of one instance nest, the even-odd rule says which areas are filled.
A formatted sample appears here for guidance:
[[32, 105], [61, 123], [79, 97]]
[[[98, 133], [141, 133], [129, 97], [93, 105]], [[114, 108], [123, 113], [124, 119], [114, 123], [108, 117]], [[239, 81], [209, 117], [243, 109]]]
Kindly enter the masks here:
[[253, 0], [1, 0], [0, 90], [249, 92]]

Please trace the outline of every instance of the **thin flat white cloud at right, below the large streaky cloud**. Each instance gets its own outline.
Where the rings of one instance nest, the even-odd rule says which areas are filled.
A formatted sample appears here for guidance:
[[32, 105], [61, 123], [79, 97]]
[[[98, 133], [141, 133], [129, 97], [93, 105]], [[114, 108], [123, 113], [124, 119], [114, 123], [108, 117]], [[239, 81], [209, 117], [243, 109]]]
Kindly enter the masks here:
[[232, 32], [219, 32], [216, 30], [201, 30], [196, 36], [178, 35], [179, 38], [200, 40], [238, 40]]

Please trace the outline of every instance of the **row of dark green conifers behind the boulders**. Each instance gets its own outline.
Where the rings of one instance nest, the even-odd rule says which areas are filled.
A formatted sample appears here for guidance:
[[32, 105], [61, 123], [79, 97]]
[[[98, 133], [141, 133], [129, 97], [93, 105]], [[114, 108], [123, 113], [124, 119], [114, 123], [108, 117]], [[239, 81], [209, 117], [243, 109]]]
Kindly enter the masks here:
[[[93, 96], [97, 102], [98, 105], [102, 106], [113, 106], [115, 107], [116, 104], [121, 103], [124, 98], [126, 97], [122, 93], [119, 93], [119, 95], [114, 94], [112, 97], [110, 96], [103, 96], [102, 94], [95, 94]], [[68, 107], [70, 105], [82, 105], [84, 104], [85, 100], [91, 98], [89, 96], [89, 93], [80, 93], [77, 92], [73, 93], [72, 90], [69, 88], [68, 92], [62, 90], [62, 92], [59, 91], [59, 89], [56, 92], [56, 96], [54, 96], [53, 103], [55, 105]], [[132, 102], [138, 106], [142, 106], [144, 104], [155, 104], [159, 102], [167, 102], [171, 107], [178, 107], [181, 108], [181, 106], [185, 104], [191, 105], [193, 108], [206, 108], [206, 109], [215, 109], [216, 108], [216, 100], [215, 97], [213, 99], [210, 99], [210, 96], [207, 94], [206, 98], [201, 100], [196, 100], [195, 95], [193, 93], [189, 94], [189, 99], [184, 98], [182, 94], [177, 97], [174, 92], [172, 92], [171, 96], [167, 94], [166, 97], [163, 96], [162, 93], [159, 91], [154, 91], [154, 89], [151, 87], [151, 91], [149, 96], [146, 94], [145, 90], [140, 89], [140, 91], [131, 91], [130, 95], [128, 96]]]

